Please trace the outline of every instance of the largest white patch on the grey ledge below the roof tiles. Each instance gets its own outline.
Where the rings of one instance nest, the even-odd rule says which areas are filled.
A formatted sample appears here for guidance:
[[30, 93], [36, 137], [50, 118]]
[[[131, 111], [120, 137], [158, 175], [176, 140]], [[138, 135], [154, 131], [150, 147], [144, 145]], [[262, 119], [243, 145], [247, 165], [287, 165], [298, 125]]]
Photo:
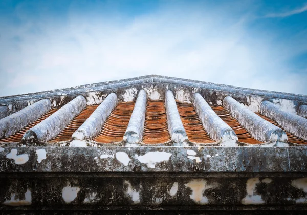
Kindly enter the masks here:
[[138, 156], [137, 159], [141, 163], [145, 163], [148, 168], [155, 168], [157, 163], [168, 161], [171, 154], [166, 152], [148, 152], [145, 155]]

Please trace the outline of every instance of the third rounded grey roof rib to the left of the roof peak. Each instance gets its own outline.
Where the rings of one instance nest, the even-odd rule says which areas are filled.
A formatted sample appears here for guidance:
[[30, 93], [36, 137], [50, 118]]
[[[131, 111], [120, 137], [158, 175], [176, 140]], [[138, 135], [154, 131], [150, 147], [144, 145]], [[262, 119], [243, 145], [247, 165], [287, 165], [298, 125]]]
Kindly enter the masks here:
[[36, 143], [54, 138], [85, 107], [86, 99], [83, 96], [77, 96], [50, 117], [28, 130], [23, 136], [23, 142]]

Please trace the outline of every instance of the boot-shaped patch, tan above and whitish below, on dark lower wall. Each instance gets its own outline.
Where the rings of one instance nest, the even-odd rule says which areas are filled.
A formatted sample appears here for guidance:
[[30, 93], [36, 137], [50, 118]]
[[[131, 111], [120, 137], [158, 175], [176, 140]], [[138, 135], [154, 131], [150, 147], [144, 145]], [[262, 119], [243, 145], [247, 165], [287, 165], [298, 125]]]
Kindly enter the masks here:
[[250, 178], [246, 183], [246, 197], [242, 200], [244, 205], [264, 204], [261, 195], [256, 194], [256, 186], [260, 183], [259, 178]]

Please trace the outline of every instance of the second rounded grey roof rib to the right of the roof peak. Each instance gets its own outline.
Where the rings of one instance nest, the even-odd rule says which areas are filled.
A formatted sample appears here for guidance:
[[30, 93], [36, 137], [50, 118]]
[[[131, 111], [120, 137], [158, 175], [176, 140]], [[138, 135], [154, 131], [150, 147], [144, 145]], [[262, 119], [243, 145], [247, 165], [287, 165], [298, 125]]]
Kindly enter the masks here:
[[199, 93], [193, 95], [193, 105], [210, 137], [221, 146], [237, 146], [238, 137], [216, 113]]

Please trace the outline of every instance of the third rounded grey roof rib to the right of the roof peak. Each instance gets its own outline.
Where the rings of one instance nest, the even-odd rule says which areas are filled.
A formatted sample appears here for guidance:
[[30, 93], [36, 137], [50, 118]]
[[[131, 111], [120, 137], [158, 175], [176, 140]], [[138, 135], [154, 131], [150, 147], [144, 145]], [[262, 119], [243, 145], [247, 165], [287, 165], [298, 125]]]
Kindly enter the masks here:
[[261, 118], [232, 97], [225, 97], [223, 105], [255, 139], [262, 142], [286, 142], [288, 140], [286, 133], [281, 128]]

